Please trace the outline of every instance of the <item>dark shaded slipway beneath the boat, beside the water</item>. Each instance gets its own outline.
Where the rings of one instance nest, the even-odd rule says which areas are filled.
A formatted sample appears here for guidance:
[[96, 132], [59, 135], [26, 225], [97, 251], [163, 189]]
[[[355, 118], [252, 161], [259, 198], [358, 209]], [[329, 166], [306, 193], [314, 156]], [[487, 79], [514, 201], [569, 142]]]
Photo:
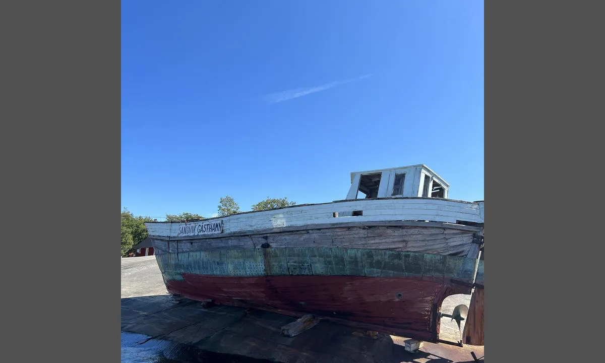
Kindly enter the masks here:
[[[156, 296], [146, 296], [152, 297]], [[169, 295], [157, 297], [165, 300], [171, 298]], [[382, 334], [368, 338], [358, 329], [330, 321], [322, 321], [308, 334], [289, 338], [281, 333], [280, 327], [292, 321], [290, 316], [253, 309], [246, 313], [244, 308], [229, 306], [204, 310], [198, 309], [195, 304], [166, 310], [166, 304], [155, 304], [155, 299], [143, 302], [146, 302], [145, 310], [157, 313], [141, 315], [141, 304], [132, 307], [130, 300], [122, 299], [122, 326], [126, 327], [123, 331], [151, 333], [152, 336], [160, 336], [160, 339], [193, 345], [203, 351], [282, 363], [472, 361], [469, 353], [471, 347], [425, 342], [419, 352], [411, 353], [405, 350], [405, 338]], [[150, 330], [151, 322], [155, 328], [153, 330]], [[139, 347], [145, 349], [146, 345]], [[192, 348], [188, 348], [188, 351], [190, 349]], [[483, 347], [472, 349], [477, 356], [483, 356]], [[174, 358], [174, 355], [166, 356]], [[240, 357], [235, 361], [242, 361]], [[195, 358], [199, 357], [187, 361], [200, 361]], [[204, 362], [220, 361], [206, 359], [205, 356], [201, 358]]]

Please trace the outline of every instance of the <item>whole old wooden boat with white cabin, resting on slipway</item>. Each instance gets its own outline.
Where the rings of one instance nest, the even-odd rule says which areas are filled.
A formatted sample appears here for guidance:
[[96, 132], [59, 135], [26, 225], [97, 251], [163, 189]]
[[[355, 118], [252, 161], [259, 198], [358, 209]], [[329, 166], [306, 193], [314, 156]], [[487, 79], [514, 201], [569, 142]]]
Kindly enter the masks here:
[[146, 223], [169, 293], [439, 341], [482, 271], [483, 201], [425, 165], [351, 173], [345, 200]]

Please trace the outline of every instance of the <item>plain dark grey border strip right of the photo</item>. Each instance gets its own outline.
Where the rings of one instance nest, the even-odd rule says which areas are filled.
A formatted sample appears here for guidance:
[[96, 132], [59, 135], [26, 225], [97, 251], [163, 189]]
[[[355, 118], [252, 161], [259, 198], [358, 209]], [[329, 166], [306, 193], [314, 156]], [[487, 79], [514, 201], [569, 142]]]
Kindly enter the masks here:
[[590, 202], [581, 180], [602, 144], [584, 126], [603, 120], [591, 89], [602, 12], [585, 4], [485, 2], [489, 362], [603, 359], [587, 345], [602, 335], [589, 318], [601, 310], [587, 296], [595, 285], [583, 289], [585, 269], [603, 264], [590, 259], [602, 255], [582, 232], [593, 208], [579, 205]]

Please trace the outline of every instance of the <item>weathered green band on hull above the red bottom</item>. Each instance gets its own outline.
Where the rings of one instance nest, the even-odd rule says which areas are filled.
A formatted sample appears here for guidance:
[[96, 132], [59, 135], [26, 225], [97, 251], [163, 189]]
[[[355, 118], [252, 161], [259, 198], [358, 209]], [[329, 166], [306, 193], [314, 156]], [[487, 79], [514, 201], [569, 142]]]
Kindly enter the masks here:
[[[473, 281], [476, 260], [432, 253], [330, 247], [231, 249], [156, 255], [168, 280], [214, 276], [370, 276]], [[483, 262], [483, 261], [481, 261]], [[483, 263], [480, 263], [483, 273]]]

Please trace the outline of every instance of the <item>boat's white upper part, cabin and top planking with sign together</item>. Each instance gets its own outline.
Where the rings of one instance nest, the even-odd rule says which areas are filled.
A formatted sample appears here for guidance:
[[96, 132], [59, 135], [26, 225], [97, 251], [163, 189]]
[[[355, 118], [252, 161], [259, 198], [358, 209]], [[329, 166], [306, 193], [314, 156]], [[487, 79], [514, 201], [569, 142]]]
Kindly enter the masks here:
[[345, 200], [298, 204], [258, 212], [186, 223], [145, 223], [155, 237], [220, 237], [251, 234], [284, 227], [311, 228], [340, 223], [438, 223], [483, 224], [483, 201], [448, 199], [450, 185], [426, 165], [411, 165], [351, 173]]

